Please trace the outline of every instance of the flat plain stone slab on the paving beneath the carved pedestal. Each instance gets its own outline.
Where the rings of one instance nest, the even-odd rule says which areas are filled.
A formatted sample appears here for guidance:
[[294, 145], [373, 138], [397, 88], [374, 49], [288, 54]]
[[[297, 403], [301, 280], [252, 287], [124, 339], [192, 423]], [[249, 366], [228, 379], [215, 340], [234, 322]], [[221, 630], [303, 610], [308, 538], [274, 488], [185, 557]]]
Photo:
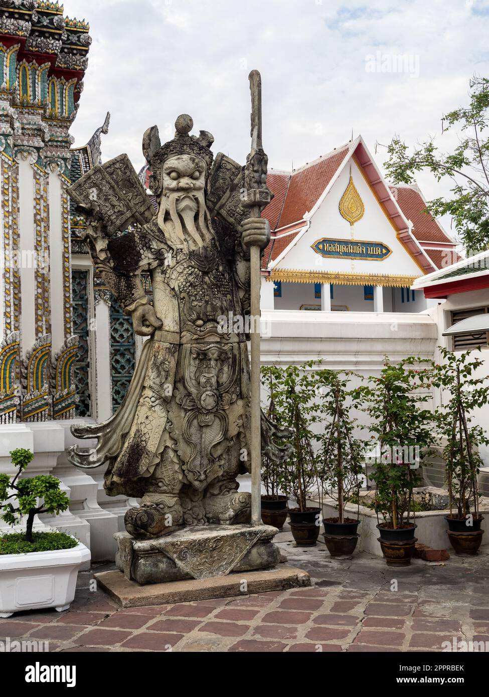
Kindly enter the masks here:
[[218, 576], [213, 579], [191, 579], [151, 585], [139, 585], [134, 581], [128, 581], [120, 571], [107, 571], [95, 574], [94, 577], [100, 588], [103, 588], [123, 608], [244, 596], [310, 585], [310, 576], [307, 572], [288, 566], [269, 571]]

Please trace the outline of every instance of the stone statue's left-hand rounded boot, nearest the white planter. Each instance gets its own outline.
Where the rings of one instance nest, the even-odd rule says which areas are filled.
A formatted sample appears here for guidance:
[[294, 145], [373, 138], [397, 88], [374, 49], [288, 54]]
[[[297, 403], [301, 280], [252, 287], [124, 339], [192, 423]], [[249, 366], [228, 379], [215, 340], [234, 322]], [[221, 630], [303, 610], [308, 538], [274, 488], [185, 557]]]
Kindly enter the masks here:
[[146, 494], [139, 507], [130, 508], [124, 516], [126, 530], [133, 537], [151, 539], [171, 533], [183, 523], [178, 496]]

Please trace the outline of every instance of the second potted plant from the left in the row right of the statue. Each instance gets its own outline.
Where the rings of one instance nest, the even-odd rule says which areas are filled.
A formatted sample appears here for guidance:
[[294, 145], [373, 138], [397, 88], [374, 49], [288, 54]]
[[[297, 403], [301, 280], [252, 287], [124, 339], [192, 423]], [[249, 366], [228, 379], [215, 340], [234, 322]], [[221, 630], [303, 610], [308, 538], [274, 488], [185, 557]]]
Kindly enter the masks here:
[[290, 431], [287, 443], [291, 454], [284, 464], [282, 483], [287, 500], [297, 504], [289, 509], [290, 529], [297, 546], [314, 546], [319, 537], [321, 509], [307, 505], [313, 489], [317, 489], [320, 498], [317, 458], [313, 448], [315, 436], [310, 429], [311, 424], [317, 421], [314, 401], [316, 383], [311, 374], [312, 367], [312, 362], [301, 367], [272, 367], [271, 398], [280, 414], [281, 425]]

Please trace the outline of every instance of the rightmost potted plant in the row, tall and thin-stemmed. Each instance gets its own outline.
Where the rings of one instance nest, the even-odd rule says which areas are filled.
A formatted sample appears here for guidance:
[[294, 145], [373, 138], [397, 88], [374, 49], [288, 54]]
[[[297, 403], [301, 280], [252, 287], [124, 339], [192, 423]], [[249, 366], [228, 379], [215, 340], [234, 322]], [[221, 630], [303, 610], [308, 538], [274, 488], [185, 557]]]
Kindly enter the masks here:
[[483, 427], [472, 423], [471, 414], [488, 404], [489, 378], [474, 377], [483, 362], [473, 358], [473, 351], [461, 355], [447, 348], [440, 351], [444, 363], [435, 367], [434, 385], [448, 397], [436, 412], [439, 435], [446, 443], [443, 458], [449, 489], [448, 535], [458, 556], [475, 556], [484, 532], [477, 482], [483, 463], [478, 449], [480, 445], [489, 445], [489, 439]]

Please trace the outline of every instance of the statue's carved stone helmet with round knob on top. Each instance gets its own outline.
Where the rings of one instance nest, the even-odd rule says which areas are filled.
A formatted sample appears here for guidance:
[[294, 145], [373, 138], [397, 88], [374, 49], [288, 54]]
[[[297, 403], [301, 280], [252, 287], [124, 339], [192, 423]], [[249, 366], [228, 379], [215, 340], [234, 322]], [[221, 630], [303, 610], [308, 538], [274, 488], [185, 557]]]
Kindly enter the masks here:
[[158, 126], [148, 128], [142, 139], [142, 151], [151, 169], [150, 187], [153, 194], [160, 194], [163, 189], [162, 169], [166, 160], [175, 155], [194, 155], [203, 160], [206, 165], [206, 176], [209, 177], [213, 153], [211, 145], [214, 137], [208, 131], [200, 131], [200, 135], [190, 135], [193, 129], [193, 119], [188, 114], [180, 114], [175, 121], [175, 137], [163, 146], [160, 141]]

